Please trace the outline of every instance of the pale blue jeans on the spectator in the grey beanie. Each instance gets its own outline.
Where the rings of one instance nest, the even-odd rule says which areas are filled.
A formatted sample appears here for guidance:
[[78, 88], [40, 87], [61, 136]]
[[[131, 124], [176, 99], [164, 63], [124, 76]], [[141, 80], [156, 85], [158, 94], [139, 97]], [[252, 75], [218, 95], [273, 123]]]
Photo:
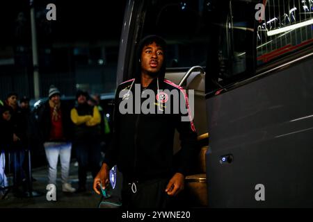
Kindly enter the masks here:
[[56, 185], [58, 156], [61, 162], [61, 182], [67, 182], [70, 172], [72, 143], [70, 142], [45, 142], [45, 152], [49, 163], [48, 181]]

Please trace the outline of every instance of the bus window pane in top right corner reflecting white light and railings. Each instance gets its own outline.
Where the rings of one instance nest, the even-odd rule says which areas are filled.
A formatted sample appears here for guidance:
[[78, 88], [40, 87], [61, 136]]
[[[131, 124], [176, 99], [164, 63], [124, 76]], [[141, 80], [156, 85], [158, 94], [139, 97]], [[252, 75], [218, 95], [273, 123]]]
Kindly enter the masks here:
[[257, 65], [312, 44], [313, 1], [266, 1], [265, 21], [257, 24]]

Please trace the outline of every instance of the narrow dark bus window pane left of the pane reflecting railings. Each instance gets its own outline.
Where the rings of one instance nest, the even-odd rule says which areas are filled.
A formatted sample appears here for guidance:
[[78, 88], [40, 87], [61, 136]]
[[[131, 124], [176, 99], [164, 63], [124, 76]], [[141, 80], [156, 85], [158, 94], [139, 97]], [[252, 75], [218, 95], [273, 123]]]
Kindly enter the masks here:
[[246, 2], [229, 1], [229, 13], [225, 23], [220, 24], [218, 60], [220, 78], [232, 78], [247, 70], [248, 51], [253, 32], [251, 5]]

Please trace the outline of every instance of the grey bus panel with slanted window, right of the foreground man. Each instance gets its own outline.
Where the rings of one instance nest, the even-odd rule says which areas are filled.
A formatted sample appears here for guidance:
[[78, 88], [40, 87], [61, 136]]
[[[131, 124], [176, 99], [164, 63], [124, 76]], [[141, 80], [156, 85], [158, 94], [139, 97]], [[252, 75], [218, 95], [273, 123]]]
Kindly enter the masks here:
[[312, 2], [212, 7], [209, 207], [312, 207]]

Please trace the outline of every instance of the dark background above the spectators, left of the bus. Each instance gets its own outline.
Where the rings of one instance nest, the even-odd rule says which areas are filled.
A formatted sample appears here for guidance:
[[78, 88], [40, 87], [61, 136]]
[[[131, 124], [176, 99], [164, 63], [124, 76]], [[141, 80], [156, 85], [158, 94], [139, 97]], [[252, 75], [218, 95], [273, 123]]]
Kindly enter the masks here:
[[[48, 3], [56, 21], [48, 21]], [[65, 96], [77, 89], [115, 91], [118, 45], [125, 11], [122, 1], [36, 0], [40, 97], [54, 84]], [[0, 99], [10, 91], [33, 98], [29, 0], [0, 3]]]

